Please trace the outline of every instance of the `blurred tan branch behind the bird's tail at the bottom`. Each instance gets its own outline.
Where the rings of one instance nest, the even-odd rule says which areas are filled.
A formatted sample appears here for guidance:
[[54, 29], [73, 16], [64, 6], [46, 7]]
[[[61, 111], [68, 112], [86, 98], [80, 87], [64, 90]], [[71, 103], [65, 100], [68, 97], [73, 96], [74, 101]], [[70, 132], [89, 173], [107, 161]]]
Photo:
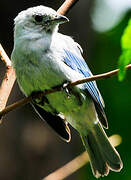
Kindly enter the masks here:
[[[118, 146], [121, 143], [121, 137], [119, 135], [113, 135], [109, 137], [109, 140], [113, 146]], [[73, 174], [75, 171], [83, 167], [89, 162], [89, 157], [87, 152], [83, 152], [72, 161], [57, 169], [53, 173], [49, 174], [42, 180], [62, 180]]]

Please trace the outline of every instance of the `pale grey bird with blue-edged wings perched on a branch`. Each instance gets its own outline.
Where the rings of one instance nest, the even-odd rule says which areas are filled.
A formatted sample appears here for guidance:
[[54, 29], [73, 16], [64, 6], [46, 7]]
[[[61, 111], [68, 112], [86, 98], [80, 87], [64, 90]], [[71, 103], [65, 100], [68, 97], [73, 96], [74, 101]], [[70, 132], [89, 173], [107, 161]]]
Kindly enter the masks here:
[[21, 11], [14, 19], [12, 66], [25, 96], [61, 87], [61, 91], [36, 98], [32, 106], [66, 142], [71, 140], [69, 124], [78, 131], [89, 154], [96, 178], [109, 170], [119, 172], [123, 163], [110, 144], [105, 104], [95, 81], [74, 87], [70, 82], [92, 76], [83, 58], [81, 46], [59, 32], [66, 16], [39, 5]]

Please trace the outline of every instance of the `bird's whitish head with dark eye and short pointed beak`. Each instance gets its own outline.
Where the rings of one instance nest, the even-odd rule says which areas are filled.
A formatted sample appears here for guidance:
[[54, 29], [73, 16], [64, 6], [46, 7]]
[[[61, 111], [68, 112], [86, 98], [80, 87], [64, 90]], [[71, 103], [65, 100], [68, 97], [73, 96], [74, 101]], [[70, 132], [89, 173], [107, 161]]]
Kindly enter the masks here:
[[18, 14], [15, 18], [15, 28], [28, 32], [46, 32], [52, 33], [59, 24], [68, 22], [68, 18], [59, 15], [55, 10], [45, 6], [36, 6], [28, 8]]

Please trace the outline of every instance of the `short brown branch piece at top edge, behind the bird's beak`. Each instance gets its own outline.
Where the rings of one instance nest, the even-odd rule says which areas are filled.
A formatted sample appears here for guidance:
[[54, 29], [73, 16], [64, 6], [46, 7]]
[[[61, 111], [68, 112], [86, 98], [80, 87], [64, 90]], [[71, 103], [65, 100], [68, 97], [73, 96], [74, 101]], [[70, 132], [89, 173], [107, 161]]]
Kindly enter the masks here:
[[57, 10], [61, 15], [65, 15], [79, 0], [66, 0], [62, 6]]

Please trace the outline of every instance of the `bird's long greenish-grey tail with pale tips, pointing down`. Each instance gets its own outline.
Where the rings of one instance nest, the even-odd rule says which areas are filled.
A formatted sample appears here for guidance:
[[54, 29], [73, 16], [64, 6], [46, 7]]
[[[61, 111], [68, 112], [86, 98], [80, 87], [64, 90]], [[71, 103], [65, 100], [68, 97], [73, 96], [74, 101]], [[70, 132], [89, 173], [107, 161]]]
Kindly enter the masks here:
[[109, 169], [113, 171], [121, 170], [123, 166], [121, 158], [115, 148], [110, 144], [100, 123], [95, 124], [86, 136], [81, 134], [81, 138], [89, 154], [95, 177], [108, 175]]

